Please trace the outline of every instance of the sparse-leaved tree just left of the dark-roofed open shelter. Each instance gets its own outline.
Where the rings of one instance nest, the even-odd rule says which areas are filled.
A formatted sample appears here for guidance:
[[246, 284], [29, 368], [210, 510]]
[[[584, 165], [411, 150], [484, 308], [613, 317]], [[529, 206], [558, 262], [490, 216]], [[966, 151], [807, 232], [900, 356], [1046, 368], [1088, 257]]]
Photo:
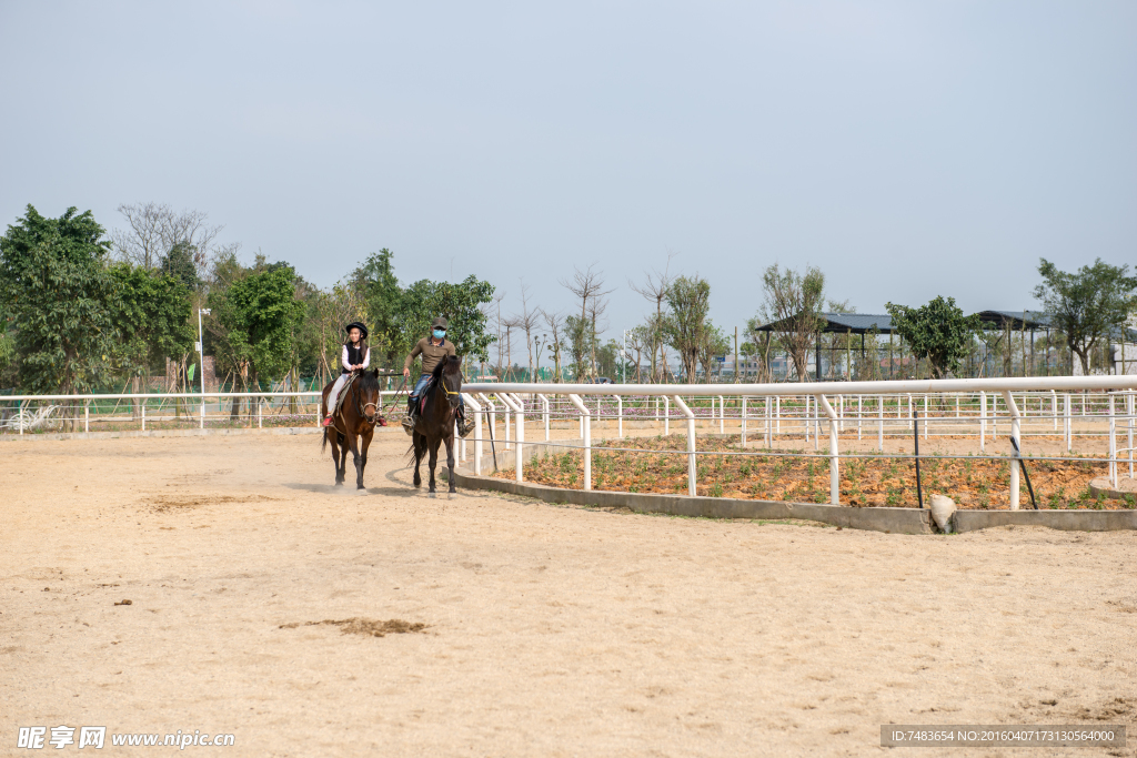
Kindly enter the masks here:
[[799, 382], [810, 381], [810, 348], [821, 330], [824, 289], [825, 275], [815, 266], [806, 266], [799, 274], [774, 264], [762, 274], [762, 319], [771, 325], [778, 345], [789, 353]]

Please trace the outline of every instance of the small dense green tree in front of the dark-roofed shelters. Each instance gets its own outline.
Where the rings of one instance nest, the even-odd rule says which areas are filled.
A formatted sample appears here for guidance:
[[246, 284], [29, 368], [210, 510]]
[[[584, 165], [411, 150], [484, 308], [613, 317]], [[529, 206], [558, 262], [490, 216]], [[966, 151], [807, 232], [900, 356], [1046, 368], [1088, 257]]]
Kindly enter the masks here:
[[972, 340], [982, 328], [979, 316], [964, 316], [955, 298], [938, 297], [920, 308], [885, 306], [893, 317], [893, 328], [908, 343], [916, 359], [926, 358], [935, 378], [960, 369]]

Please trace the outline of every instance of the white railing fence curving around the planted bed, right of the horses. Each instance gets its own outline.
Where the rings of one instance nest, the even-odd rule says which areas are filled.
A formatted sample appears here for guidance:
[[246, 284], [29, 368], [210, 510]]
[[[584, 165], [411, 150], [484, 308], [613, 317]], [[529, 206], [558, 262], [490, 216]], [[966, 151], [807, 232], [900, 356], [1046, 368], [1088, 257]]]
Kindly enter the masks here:
[[[907, 382], [819, 382], [810, 384], [498, 384], [475, 383], [463, 386], [463, 394], [473, 410], [475, 434], [474, 473], [481, 474], [484, 444], [495, 442], [501, 450], [514, 451], [514, 476], [524, 481], [526, 445], [550, 448], [572, 447], [583, 455], [583, 489], [590, 490], [591, 432], [594, 424], [615, 423], [617, 439], [624, 438], [625, 423], [650, 424], [671, 433], [671, 420], [682, 420], [687, 432], [688, 494], [696, 494], [699, 455], [697, 425], [709, 433], [731, 431], [741, 434], [746, 444], [764, 443], [769, 449], [778, 439], [812, 440], [814, 450], [828, 438], [830, 502], [840, 505], [840, 461], [865, 457], [861, 452], [841, 452], [841, 434], [857, 440], [875, 433], [882, 452], [887, 436], [911, 438], [914, 433], [931, 436], [973, 436], [980, 458], [985, 444], [1001, 432], [1014, 440], [1009, 460], [1010, 507], [1019, 508], [1020, 457], [1028, 435], [1060, 436], [1068, 452], [1074, 439], [1105, 436], [1109, 440], [1109, 475], [1117, 486], [1120, 452], [1128, 453], [1129, 476], [1134, 475], [1134, 390], [1137, 376], [1067, 376], [1019, 377], [993, 380], [928, 380]], [[796, 392], [795, 392], [796, 391]], [[661, 394], [666, 393], [666, 394]], [[497, 433], [497, 416], [504, 416], [501, 433]], [[512, 416], [512, 419], [511, 419]], [[537, 417], [543, 426], [543, 442], [525, 441], [525, 417]], [[491, 435], [484, 436], [489, 423]], [[580, 444], [554, 442], [550, 428], [558, 422], [580, 425]], [[916, 428], [913, 428], [913, 424]], [[1128, 444], [1119, 449], [1117, 434], [1123, 424]], [[511, 439], [512, 438], [512, 439]], [[750, 439], [748, 439], [750, 438]], [[756, 439], [755, 439], [756, 438]], [[459, 445], [459, 459], [467, 460], [466, 442]], [[630, 448], [631, 449], [631, 448]], [[606, 448], [612, 450], [612, 448]], [[788, 453], [782, 453], [788, 455]], [[797, 453], [808, 457], [806, 453]], [[875, 453], [874, 453], [875, 455]], [[911, 458], [912, 456], [901, 456]], [[923, 456], [922, 456], [923, 457]], [[1026, 457], [1029, 460], [1029, 457]], [[1051, 457], [1053, 459], [1053, 457]]]

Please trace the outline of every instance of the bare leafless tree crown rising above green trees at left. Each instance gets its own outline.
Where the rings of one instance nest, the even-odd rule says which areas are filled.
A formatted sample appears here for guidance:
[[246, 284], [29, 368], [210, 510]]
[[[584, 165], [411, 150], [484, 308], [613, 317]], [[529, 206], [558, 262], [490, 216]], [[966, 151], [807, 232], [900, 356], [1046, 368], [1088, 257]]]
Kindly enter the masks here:
[[199, 272], [213, 260], [236, 252], [239, 244], [219, 244], [217, 236], [224, 225], [210, 226], [208, 214], [201, 210], [175, 211], [165, 203], [123, 203], [118, 213], [126, 217], [130, 230], [115, 230], [110, 239], [123, 260], [147, 269], [158, 268], [174, 245], [191, 252]]

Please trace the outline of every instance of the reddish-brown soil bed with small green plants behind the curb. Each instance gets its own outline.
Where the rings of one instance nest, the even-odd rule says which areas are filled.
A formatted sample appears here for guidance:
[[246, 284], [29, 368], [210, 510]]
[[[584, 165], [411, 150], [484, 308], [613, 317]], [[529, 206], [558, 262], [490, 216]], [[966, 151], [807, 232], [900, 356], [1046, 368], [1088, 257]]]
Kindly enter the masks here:
[[[697, 457], [696, 491], [700, 495], [829, 502], [829, 461], [824, 457], [795, 458], [785, 453], [802, 450], [754, 450], [754, 455], [714, 455], [741, 452], [738, 435], [700, 438]], [[634, 444], [639, 451], [605, 450]], [[592, 489], [686, 494], [687, 457], [665, 451], [687, 450], [684, 435], [609, 440], [592, 449]], [[778, 455], [781, 453], [781, 455]], [[811, 456], [815, 453], [808, 453]], [[946, 494], [961, 508], [1005, 508], [1009, 500], [1010, 459], [939, 458], [920, 461], [923, 495]], [[1039, 508], [1134, 508], [1134, 498], [1109, 500], [1093, 495], [1092, 478], [1106, 473], [1101, 459], [1070, 461], [1028, 461], [1030, 482]], [[915, 467], [911, 459], [869, 455], [841, 458], [841, 503], [848, 506], [916, 507]], [[525, 465], [525, 480], [565, 489], [582, 489], [583, 453], [566, 450]], [[512, 472], [499, 472], [513, 478]], [[1026, 481], [1020, 482], [1022, 507], [1030, 507]]]

